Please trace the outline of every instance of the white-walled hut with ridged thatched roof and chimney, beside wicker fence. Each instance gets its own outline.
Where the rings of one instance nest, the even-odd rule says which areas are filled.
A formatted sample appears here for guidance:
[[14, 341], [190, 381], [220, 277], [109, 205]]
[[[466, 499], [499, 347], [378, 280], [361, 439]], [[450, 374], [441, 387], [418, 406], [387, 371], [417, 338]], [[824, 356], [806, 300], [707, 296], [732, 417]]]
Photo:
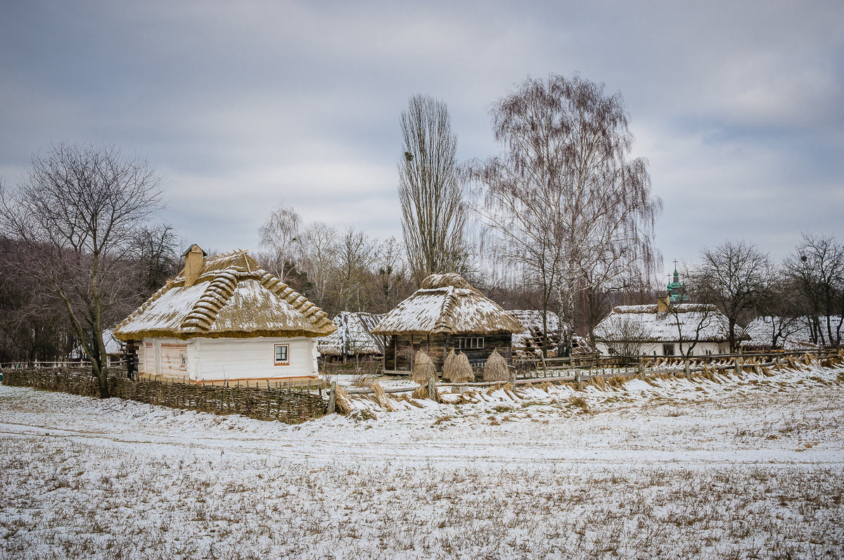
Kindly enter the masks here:
[[319, 307], [245, 251], [215, 258], [197, 245], [185, 269], [117, 324], [138, 372], [202, 383], [317, 376], [316, 339], [336, 327]]

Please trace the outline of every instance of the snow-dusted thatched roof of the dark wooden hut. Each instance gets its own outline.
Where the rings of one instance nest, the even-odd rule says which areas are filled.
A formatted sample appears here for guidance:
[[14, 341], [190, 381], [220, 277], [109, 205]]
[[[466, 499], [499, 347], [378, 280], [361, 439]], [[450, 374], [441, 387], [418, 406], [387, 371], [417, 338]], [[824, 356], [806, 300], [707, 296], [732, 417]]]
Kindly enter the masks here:
[[430, 275], [381, 322], [372, 334], [499, 334], [522, 332], [522, 325], [475, 290], [463, 276]]

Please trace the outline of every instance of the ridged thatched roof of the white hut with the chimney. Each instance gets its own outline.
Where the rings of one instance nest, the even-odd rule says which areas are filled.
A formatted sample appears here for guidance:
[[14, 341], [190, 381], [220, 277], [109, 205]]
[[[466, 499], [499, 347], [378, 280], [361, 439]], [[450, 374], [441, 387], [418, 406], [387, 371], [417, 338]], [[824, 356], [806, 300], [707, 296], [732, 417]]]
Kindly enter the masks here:
[[262, 269], [246, 251], [235, 251], [209, 259], [188, 287], [182, 270], [118, 323], [114, 335], [120, 340], [317, 337], [335, 329], [322, 309]]

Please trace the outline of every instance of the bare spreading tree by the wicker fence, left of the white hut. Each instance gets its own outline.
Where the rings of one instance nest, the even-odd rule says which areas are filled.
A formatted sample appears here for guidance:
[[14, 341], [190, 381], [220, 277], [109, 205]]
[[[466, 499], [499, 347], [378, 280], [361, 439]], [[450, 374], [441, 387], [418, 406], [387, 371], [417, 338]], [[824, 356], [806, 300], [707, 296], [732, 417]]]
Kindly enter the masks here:
[[0, 192], [0, 225], [24, 243], [41, 280], [61, 299], [104, 398], [103, 327], [132, 277], [125, 264], [138, 231], [161, 208], [159, 185], [146, 161], [120, 150], [58, 144], [33, 157], [17, 189]]

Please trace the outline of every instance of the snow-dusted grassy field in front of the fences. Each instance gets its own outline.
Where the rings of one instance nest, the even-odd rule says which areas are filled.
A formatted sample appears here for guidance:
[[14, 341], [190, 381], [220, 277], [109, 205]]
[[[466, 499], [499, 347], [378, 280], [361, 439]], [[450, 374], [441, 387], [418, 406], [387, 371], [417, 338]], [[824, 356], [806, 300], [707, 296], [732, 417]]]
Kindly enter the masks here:
[[0, 558], [842, 557], [844, 370], [774, 373], [300, 426], [0, 387]]

